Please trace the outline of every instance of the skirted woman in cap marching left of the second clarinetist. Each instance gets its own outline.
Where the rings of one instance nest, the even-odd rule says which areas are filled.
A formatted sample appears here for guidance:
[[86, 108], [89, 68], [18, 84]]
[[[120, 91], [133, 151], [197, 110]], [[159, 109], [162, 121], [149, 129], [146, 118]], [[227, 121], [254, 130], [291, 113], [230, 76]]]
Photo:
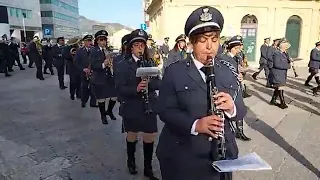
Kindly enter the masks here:
[[[107, 52], [108, 32], [100, 30], [94, 37], [97, 46], [92, 48], [89, 54], [89, 63], [92, 70], [91, 83], [98, 102], [102, 124], [108, 124], [107, 115], [112, 120], [116, 120], [112, 110], [116, 104], [114, 97], [117, 96], [112, 72], [112, 59]], [[106, 111], [106, 99], [108, 98], [110, 100]]]

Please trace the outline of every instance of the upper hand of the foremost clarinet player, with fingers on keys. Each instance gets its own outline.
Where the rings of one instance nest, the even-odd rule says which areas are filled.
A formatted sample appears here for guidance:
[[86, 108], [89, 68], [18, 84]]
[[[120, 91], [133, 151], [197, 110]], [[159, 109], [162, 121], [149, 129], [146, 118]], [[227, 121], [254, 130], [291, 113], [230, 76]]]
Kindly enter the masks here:
[[217, 105], [218, 109], [221, 109], [229, 114], [233, 114], [234, 102], [230, 94], [225, 92], [219, 92], [213, 98], [213, 101]]

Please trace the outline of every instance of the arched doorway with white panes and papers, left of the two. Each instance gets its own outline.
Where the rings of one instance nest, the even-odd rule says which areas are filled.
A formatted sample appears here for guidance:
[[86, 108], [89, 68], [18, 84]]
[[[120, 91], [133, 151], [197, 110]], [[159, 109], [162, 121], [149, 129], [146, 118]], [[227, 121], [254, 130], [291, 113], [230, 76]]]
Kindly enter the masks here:
[[248, 61], [255, 61], [258, 19], [255, 15], [247, 14], [241, 20], [241, 36]]

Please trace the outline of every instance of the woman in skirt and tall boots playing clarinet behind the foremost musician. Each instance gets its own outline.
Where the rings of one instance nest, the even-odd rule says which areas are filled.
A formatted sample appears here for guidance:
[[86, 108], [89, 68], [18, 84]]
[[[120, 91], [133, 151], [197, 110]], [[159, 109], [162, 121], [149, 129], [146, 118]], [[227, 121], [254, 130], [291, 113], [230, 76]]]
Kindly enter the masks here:
[[[135, 163], [135, 151], [138, 132], [143, 133], [144, 175], [150, 180], [157, 180], [152, 170], [152, 156], [154, 140], [156, 138], [157, 117], [155, 112], [146, 114], [145, 101], [142, 98], [143, 91], [148, 88], [151, 108], [156, 101], [155, 90], [158, 89], [158, 79], [150, 81], [136, 78], [136, 70], [144, 62], [145, 66], [152, 66], [152, 59], [148, 59], [146, 41], [148, 34], [140, 29], [130, 35], [128, 54], [118, 66], [116, 87], [118, 96], [122, 102], [120, 115], [123, 118], [124, 130], [127, 132], [127, 167], [130, 174], [137, 174]], [[152, 109], [153, 110], [153, 109]]]

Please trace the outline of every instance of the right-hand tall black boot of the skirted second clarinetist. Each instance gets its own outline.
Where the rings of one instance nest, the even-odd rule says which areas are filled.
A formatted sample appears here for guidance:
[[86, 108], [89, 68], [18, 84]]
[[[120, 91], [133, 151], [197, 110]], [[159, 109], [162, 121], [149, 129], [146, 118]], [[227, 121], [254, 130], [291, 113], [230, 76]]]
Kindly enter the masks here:
[[143, 142], [143, 154], [144, 154], [144, 176], [150, 180], [159, 180], [155, 177], [152, 170], [152, 156], [153, 156], [154, 143]]

